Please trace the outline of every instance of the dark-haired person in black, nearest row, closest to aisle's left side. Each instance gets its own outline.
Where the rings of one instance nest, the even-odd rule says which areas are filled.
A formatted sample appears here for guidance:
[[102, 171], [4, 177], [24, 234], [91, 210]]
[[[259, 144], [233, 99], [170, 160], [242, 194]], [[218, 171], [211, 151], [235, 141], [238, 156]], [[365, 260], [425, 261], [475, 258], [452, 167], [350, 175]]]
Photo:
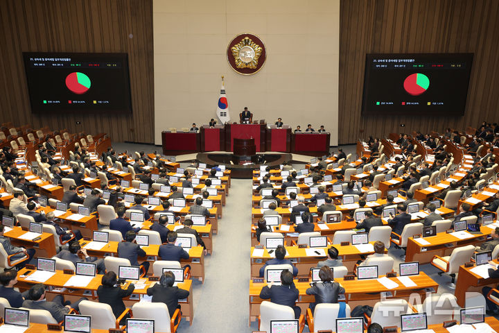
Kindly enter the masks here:
[[[183, 300], [189, 297], [189, 291], [173, 287], [175, 283], [175, 275], [171, 271], [166, 271], [159, 278], [159, 284], [154, 284], [147, 289], [148, 296], [152, 296], [152, 302], [164, 303], [168, 307], [170, 318], [175, 314], [176, 309], [180, 309], [178, 300]], [[177, 317], [177, 323], [180, 321], [180, 316]], [[176, 323], [175, 323], [176, 325]]]

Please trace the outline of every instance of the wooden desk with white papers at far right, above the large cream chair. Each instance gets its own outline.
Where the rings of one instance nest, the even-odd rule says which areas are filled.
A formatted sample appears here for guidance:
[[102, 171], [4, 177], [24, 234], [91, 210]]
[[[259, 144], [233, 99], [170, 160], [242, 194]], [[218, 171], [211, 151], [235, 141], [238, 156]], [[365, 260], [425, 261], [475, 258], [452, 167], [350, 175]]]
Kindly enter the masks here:
[[466, 245], [480, 245], [487, 239], [487, 235], [493, 229], [488, 228], [487, 225], [480, 227], [482, 234], [471, 234], [470, 238], [459, 239], [452, 234], [446, 232], [439, 232], [435, 236], [422, 237], [429, 241], [428, 245], [421, 245], [417, 242], [418, 239], [412, 237], [408, 239], [407, 250], [405, 252], [405, 262], [419, 262], [420, 264], [429, 264], [435, 255], [444, 257], [450, 255], [455, 248]]

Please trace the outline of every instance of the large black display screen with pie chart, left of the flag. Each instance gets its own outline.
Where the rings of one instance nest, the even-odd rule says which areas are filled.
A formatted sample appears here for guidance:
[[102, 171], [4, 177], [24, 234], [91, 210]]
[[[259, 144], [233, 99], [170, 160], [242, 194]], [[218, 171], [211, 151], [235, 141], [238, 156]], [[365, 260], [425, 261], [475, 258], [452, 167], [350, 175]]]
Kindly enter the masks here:
[[23, 56], [34, 113], [132, 112], [126, 53]]

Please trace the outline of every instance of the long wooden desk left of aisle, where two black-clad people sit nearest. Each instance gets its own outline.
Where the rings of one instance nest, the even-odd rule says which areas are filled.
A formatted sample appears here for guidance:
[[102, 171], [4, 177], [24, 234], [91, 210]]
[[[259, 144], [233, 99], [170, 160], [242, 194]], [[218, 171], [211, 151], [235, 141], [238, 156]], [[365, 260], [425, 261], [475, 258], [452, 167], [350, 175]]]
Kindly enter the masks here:
[[[16, 287], [19, 288], [20, 291], [25, 291], [30, 289], [33, 284], [37, 284], [39, 282], [36, 281], [28, 281], [26, 278], [21, 277], [21, 275], [26, 272], [26, 268], [21, 269], [17, 273], [17, 284]], [[29, 276], [29, 275], [28, 275]], [[101, 285], [102, 277], [103, 275], [96, 274], [95, 278], [93, 278], [90, 283], [87, 285], [87, 287], [66, 287], [67, 290], [58, 292], [55, 291], [55, 288], [63, 288], [64, 284], [72, 277], [73, 275], [71, 274], [64, 274], [62, 271], [55, 271], [55, 275], [53, 275], [49, 280], [46, 280], [44, 284], [46, 286], [49, 286], [49, 291], [47, 297], [49, 300], [53, 299], [55, 295], [64, 295], [64, 298], [81, 298], [81, 297], [87, 297], [91, 300], [98, 300], [97, 296], [97, 289]], [[125, 306], [130, 307], [134, 302], [137, 302], [140, 300], [139, 299], [134, 299], [133, 295], [145, 295], [147, 294], [147, 289], [149, 287], [152, 287], [153, 284], [156, 282], [148, 281], [146, 280], [146, 287], [143, 289], [134, 289], [134, 292], [132, 293], [131, 296], [128, 296], [127, 298], [123, 298], [125, 302]], [[194, 307], [193, 307], [193, 292], [192, 292], [192, 280], [184, 280], [184, 282], [178, 284], [178, 287], [180, 289], [184, 289], [189, 291], [189, 296], [187, 297], [186, 301], [184, 302], [179, 302], [180, 307], [182, 308], [182, 316], [186, 318], [187, 321], [189, 321], [192, 325], [193, 317], [194, 317]], [[71, 292], [70, 292], [71, 290]], [[91, 296], [87, 296], [84, 294], [85, 291], [91, 291]], [[45, 325], [46, 327], [46, 325]], [[107, 330], [105, 331], [107, 332]]]

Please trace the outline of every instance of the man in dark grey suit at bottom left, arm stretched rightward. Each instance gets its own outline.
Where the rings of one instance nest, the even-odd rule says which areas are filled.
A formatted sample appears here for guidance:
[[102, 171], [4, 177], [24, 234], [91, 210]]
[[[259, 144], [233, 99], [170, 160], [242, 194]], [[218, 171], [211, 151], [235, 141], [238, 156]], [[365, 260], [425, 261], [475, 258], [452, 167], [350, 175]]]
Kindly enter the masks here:
[[77, 302], [71, 304], [69, 301], [64, 302], [64, 297], [62, 295], [57, 295], [51, 302], [47, 301], [45, 299], [45, 286], [42, 283], [35, 284], [31, 287], [28, 295], [30, 300], [25, 300], [23, 302], [23, 307], [49, 311], [58, 323], [64, 321], [64, 314], [67, 314], [70, 309], [80, 311], [78, 305], [80, 305], [82, 300], [87, 300], [87, 298], [80, 298]]

